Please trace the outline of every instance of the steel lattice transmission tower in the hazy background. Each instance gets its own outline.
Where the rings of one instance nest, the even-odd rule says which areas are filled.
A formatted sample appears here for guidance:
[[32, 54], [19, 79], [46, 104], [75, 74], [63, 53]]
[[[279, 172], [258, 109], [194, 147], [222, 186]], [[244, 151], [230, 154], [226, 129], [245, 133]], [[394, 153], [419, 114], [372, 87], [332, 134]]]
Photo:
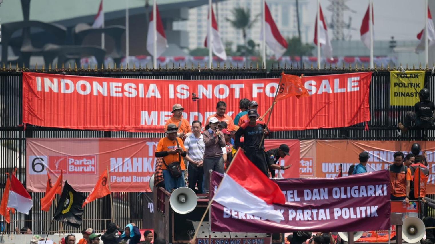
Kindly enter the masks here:
[[331, 28], [334, 37], [333, 40], [345, 40], [344, 30], [351, 30], [351, 17], [349, 17], [349, 22], [345, 23], [344, 21], [344, 13], [345, 11], [351, 11], [352, 13], [356, 13], [354, 10], [351, 10], [345, 2], [348, 0], [329, 0], [331, 4], [326, 7], [327, 10], [332, 12], [331, 21], [329, 23], [329, 28]]

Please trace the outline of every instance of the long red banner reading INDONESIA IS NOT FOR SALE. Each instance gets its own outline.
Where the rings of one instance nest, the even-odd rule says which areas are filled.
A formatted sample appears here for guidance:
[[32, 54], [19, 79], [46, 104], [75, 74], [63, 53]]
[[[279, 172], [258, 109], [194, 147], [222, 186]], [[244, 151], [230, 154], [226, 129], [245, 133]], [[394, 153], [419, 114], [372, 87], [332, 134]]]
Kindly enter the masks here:
[[[305, 76], [301, 81], [311, 96], [279, 101], [269, 124], [272, 131], [345, 127], [370, 120], [371, 72]], [[153, 80], [24, 72], [23, 123], [162, 132], [176, 103], [184, 106], [183, 116], [190, 122], [204, 122], [220, 100], [233, 118], [243, 98], [257, 101], [262, 114], [272, 105], [278, 82], [279, 78]], [[199, 97], [199, 118], [192, 93]]]

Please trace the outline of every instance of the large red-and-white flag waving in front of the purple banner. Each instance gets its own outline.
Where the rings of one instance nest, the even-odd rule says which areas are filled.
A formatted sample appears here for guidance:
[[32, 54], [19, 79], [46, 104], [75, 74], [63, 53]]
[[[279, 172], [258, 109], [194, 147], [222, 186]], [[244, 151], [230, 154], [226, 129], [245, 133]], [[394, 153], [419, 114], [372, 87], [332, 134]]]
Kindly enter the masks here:
[[[249, 169], [249, 170], [247, 170]], [[239, 151], [214, 195], [214, 201], [234, 211], [241, 211], [279, 223], [284, 220], [272, 204], [284, 204], [278, 185], [269, 179]]]

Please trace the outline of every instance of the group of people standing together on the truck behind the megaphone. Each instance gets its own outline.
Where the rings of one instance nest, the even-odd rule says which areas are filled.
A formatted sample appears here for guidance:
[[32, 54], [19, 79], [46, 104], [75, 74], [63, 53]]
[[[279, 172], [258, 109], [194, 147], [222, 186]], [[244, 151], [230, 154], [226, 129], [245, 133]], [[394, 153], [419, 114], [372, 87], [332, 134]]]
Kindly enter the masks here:
[[[208, 193], [210, 170], [224, 173], [238, 148], [265, 175], [275, 177], [275, 170], [285, 170], [279, 158], [289, 155], [290, 148], [282, 144], [266, 152], [264, 138], [269, 135], [266, 123], [258, 115], [258, 103], [241, 99], [241, 110], [235, 121], [226, 114], [227, 104], [219, 101], [216, 113], [206, 124], [198, 120], [191, 124], [183, 118], [184, 107], [175, 104], [173, 116], [167, 120], [165, 137], [157, 144], [159, 158], [154, 173], [154, 185], [172, 192], [186, 185], [197, 193]], [[237, 125], [236, 125], [237, 124]]]

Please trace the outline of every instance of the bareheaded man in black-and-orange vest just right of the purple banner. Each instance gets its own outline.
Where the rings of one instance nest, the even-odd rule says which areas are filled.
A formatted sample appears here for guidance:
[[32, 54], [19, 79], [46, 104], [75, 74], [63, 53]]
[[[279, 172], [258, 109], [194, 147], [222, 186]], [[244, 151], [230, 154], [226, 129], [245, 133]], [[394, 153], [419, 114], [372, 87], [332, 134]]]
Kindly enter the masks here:
[[394, 164], [390, 165], [391, 200], [404, 200], [409, 202], [409, 190], [411, 188], [411, 170], [403, 164], [403, 152], [395, 152]]

